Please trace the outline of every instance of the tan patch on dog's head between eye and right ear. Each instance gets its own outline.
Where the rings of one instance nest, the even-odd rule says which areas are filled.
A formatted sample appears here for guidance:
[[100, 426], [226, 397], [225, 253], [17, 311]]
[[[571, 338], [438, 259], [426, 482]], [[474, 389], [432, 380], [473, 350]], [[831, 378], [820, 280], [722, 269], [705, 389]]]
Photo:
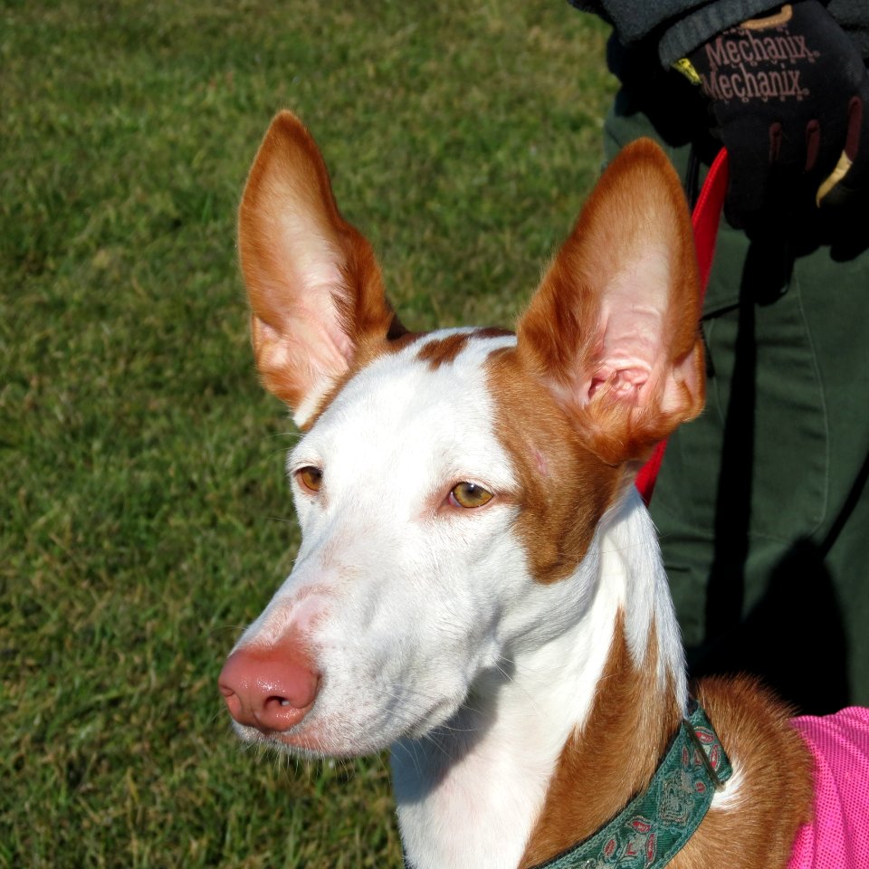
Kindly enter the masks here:
[[585, 558], [597, 523], [626, 483], [625, 470], [588, 449], [517, 349], [496, 350], [488, 365], [495, 431], [519, 481], [517, 532], [533, 577], [555, 582]]

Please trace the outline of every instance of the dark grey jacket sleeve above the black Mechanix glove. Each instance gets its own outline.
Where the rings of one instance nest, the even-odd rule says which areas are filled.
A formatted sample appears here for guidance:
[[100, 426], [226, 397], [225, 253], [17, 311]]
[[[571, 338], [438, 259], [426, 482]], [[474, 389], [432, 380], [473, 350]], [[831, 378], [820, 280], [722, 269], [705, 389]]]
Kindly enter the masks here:
[[[584, 12], [599, 15], [613, 25], [624, 45], [654, 39], [658, 57], [668, 67], [716, 33], [748, 18], [778, 8], [770, 0], [568, 0]], [[852, 39], [869, 31], [869, 3], [831, 0], [830, 14]], [[863, 46], [860, 46], [861, 48]]]

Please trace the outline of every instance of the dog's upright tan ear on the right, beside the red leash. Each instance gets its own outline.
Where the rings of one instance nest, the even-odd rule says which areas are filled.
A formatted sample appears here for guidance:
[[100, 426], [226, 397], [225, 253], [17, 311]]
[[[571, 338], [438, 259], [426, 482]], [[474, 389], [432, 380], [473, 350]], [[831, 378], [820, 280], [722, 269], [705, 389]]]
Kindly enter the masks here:
[[606, 169], [518, 326], [519, 349], [607, 463], [645, 459], [704, 397], [691, 218], [645, 139]]

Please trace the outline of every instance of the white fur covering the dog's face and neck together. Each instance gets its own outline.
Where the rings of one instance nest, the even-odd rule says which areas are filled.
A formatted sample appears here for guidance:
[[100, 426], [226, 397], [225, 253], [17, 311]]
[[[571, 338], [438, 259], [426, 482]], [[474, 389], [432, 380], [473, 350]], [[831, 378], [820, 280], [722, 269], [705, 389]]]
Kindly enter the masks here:
[[[658, 678], [685, 700], [657, 540], [633, 488], [573, 576], [542, 585], [530, 574], [516, 508], [499, 497], [518, 482], [484, 368], [513, 343], [473, 338], [433, 369], [416, 342], [350, 380], [288, 457], [291, 474], [316, 466], [323, 485], [294, 483], [299, 558], [239, 643], [295, 632], [322, 673], [299, 724], [272, 737], [239, 725], [245, 738], [330, 755], [393, 746], [415, 869], [518, 864], [559, 753], [591, 709], [619, 610], [638, 664], [657, 630]], [[451, 506], [463, 481], [494, 498]]]

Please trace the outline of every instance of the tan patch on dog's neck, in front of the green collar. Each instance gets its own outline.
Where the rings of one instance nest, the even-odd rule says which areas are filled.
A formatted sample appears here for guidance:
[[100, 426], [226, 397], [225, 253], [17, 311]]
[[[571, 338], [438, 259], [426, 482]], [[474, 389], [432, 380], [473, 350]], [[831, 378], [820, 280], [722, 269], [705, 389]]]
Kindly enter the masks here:
[[661, 691], [655, 682], [657, 654], [653, 629], [635, 663], [620, 613], [594, 705], [561, 752], [520, 869], [591, 836], [648, 787], [681, 719], [672, 684]]

